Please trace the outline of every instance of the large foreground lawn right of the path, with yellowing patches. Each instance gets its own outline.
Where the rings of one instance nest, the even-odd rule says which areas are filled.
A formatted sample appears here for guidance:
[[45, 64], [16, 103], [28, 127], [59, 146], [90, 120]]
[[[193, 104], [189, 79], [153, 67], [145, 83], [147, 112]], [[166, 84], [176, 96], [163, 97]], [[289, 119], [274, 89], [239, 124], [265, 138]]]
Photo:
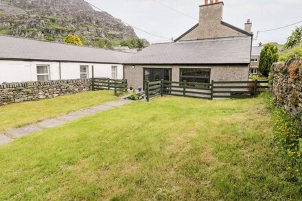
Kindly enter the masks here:
[[0, 200], [301, 200], [265, 98], [160, 97], [0, 147]]

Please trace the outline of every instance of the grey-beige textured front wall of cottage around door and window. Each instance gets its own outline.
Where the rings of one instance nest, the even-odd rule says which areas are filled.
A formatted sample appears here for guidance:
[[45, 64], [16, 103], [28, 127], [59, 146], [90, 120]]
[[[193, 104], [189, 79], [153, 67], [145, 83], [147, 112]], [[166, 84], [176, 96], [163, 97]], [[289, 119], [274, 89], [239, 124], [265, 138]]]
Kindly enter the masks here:
[[143, 86], [143, 69], [144, 68], [164, 68], [172, 69], [172, 81], [179, 82], [180, 69], [211, 69], [210, 80], [214, 81], [244, 81], [248, 80], [248, 64], [246, 65], [213, 65], [213, 66], [176, 66], [176, 65], [135, 65], [135, 69], [132, 65], [124, 66], [124, 75], [128, 80], [128, 85], [133, 88]]

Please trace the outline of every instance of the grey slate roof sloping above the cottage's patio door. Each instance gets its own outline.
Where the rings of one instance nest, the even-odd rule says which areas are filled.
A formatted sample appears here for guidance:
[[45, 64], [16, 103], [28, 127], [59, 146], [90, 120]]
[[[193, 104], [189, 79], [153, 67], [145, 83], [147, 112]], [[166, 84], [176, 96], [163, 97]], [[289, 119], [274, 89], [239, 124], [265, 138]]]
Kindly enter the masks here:
[[124, 64], [249, 64], [251, 42], [240, 36], [154, 44]]

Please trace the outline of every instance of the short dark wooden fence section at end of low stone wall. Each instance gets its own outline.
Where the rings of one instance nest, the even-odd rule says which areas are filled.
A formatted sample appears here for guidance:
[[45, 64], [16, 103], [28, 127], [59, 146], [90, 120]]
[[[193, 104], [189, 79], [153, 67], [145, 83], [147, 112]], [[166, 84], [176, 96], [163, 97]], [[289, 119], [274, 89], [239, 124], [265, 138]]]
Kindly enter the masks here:
[[118, 95], [128, 90], [128, 81], [110, 78], [92, 78], [92, 90], [114, 90], [115, 95]]

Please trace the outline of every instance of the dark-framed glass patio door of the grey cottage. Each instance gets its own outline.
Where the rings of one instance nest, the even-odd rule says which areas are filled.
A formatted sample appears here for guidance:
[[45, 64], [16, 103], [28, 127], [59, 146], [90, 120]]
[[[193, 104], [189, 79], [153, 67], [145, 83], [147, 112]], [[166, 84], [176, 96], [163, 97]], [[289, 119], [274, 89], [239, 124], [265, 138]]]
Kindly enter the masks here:
[[[143, 69], [143, 83], [146, 81], [156, 82], [160, 80], [171, 81], [172, 69]], [[145, 84], [143, 84], [145, 89]]]

